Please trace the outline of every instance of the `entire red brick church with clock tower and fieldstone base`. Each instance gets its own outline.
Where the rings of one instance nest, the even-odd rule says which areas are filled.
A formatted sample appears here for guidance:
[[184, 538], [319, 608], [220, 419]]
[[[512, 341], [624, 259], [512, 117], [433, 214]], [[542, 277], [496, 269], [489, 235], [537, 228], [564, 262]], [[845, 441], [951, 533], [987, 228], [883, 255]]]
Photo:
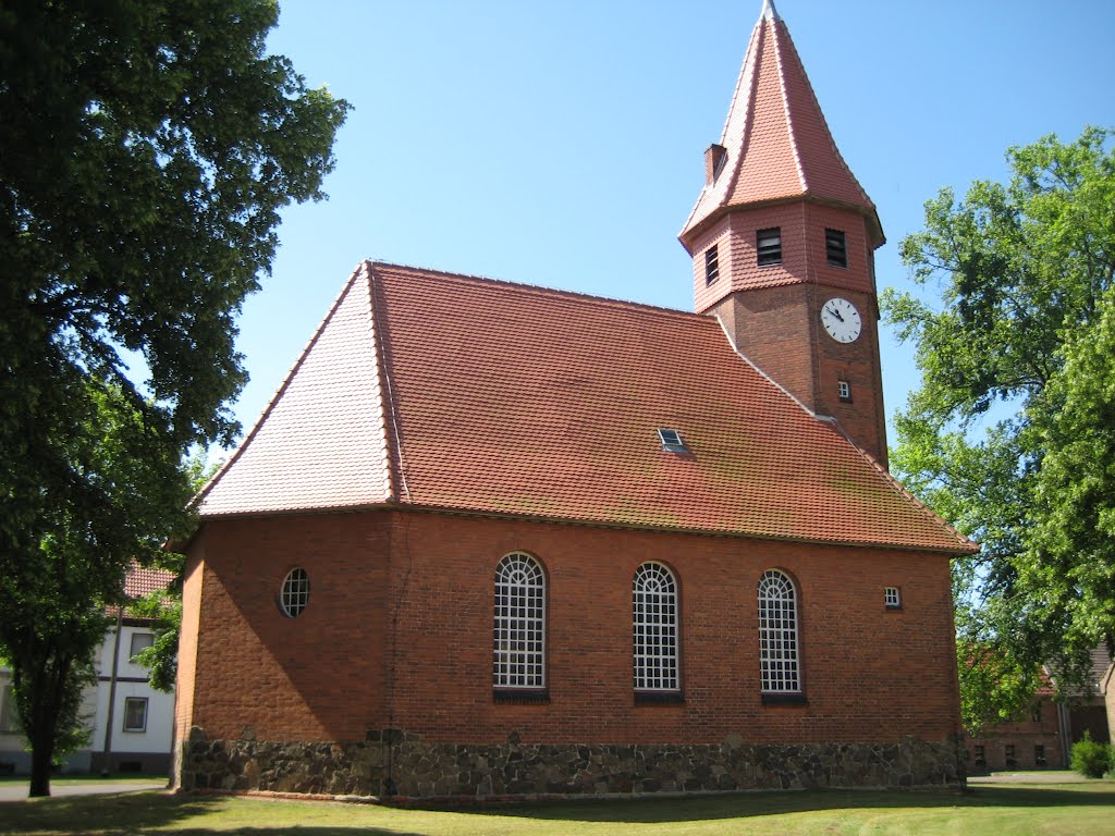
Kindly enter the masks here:
[[177, 781], [962, 781], [949, 560], [885, 469], [874, 206], [764, 6], [696, 313], [358, 266], [190, 544]]

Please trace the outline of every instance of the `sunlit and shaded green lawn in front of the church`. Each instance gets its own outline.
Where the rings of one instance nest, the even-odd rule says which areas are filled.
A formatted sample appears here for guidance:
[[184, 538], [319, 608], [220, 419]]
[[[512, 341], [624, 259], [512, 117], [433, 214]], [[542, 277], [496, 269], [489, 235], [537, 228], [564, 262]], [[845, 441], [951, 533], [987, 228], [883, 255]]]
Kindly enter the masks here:
[[357, 832], [361, 836], [1115, 836], [1115, 780], [981, 785], [964, 795], [896, 790], [754, 793], [464, 811], [153, 791], [0, 804], [0, 834], [21, 836], [355, 836]]

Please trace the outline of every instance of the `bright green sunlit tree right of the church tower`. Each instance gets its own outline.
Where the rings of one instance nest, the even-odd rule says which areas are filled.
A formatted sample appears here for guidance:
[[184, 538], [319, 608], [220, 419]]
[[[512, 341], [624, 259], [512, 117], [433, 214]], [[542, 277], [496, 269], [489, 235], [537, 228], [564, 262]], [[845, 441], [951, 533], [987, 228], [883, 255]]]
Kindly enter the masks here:
[[[902, 242], [922, 295], [883, 294], [922, 372], [892, 466], [982, 546], [953, 566], [969, 728], [1024, 708], [1043, 663], [1068, 684], [1088, 650], [1115, 644], [1109, 139], [1047, 136], [1008, 152], [1009, 183], [960, 202], [943, 189]], [[993, 694], [982, 654], [1005, 683]]]

